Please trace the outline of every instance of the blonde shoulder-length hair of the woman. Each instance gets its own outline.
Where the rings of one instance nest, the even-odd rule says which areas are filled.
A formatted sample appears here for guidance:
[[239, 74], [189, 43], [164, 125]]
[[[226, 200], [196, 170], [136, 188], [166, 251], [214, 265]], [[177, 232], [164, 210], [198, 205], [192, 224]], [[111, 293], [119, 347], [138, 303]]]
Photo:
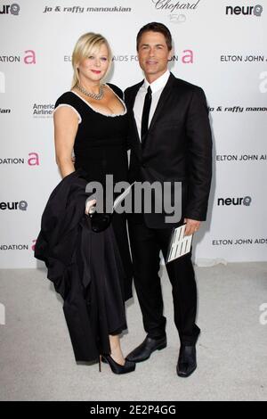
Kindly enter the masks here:
[[77, 86], [77, 84], [80, 82], [79, 70], [77, 68], [77, 65], [80, 62], [82, 62], [85, 58], [87, 58], [90, 55], [90, 53], [92, 53], [92, 50], [94, 48], [100, 48], [102, 44], [105, 44], [108, 49], [108, 73], [112, 63], [112, 53], [107, 39], [103, 37], [101, 34], [95, 34], [93, 32], [88, 32], [78, 38], [72, 53], [73, 78], [71, 88]]

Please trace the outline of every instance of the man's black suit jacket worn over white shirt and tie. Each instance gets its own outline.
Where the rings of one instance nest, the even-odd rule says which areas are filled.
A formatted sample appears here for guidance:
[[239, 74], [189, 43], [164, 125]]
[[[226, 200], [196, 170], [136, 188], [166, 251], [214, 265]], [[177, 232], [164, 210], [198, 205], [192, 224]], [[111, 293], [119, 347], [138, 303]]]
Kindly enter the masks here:
[[[129, 181], [182, 182], [182, 218], [203, 221], [212, 177], [212, 136], [206, 96], [200, 87], [171, 73], [142, 145], [133, 111], [142, 83], [125, 90], [130, 115]], [[174, 226], [166, 224], [164, 212], [143, 217], [151, 228]]]

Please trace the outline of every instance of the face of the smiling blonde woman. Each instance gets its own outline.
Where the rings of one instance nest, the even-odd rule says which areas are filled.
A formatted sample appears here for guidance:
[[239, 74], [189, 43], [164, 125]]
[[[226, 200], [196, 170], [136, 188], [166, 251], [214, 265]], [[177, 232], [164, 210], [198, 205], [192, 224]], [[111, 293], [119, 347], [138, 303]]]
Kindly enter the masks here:
[[90, 55], [77, 66], [81, 83], [91, 81], [97, 83], [103, 78], [109, 68], [109, 51], [107, 45], [101, 44], [94, 48]]

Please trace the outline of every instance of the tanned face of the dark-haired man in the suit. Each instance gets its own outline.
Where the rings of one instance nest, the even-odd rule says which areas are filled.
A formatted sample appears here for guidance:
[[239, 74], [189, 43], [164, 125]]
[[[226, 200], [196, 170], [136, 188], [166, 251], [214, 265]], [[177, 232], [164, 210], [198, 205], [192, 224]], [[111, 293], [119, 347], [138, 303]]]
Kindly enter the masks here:
[[166, 38], [160, 32], [144, 32], [137, 53], [140, 67], [150, 83], [166, 72], [168, 60], [172, 58]]

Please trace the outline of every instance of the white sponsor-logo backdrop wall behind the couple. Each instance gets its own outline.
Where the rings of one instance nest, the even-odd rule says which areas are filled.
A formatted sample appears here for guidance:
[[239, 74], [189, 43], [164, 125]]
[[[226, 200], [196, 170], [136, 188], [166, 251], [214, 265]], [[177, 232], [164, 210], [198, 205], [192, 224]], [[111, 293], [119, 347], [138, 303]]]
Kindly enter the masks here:
[[109, 81], [124, 89], [142, 79], [135, 36], [149, 21], [171, 30], [170, 70], [202, 86], [210, 108], [214, 179], [195, 258], [267, 259], [267, 1], [259, 2], [0, 1], [1, 267], [36, 267], [40, 218], [61, 180], [53, 104], [69, 90], [77, 38], [88, 31], [108, 38]]

